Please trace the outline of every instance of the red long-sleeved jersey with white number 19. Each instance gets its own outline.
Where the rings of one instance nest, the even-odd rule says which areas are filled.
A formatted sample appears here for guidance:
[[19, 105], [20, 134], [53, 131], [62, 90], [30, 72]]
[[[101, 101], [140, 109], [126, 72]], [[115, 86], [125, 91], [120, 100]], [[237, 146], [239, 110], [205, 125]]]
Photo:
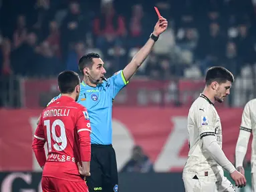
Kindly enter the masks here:
[[91, 159], [90, 132], [86, 108], [71, 97], [61, 96], [46, 107], [41, 113], [32, 144], [39, 165], [44, 165], [43, 177], [84, 181], [77, 163]]

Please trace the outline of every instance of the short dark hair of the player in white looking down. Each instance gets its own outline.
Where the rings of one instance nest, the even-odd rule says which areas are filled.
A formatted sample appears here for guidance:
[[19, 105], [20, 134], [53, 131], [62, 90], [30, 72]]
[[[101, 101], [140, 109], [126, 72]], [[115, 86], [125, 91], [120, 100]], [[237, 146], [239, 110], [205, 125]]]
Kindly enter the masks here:
[[211, 85], [213, 81], [217, 81], [217, 83], [226, 83], [226, 81], [231, 81], [233, 83], [235, 78], [233, 74], [227, 70], [225, 67], [211, 67], [207, 71], [207, 75], [205, 77], [206, 85]]

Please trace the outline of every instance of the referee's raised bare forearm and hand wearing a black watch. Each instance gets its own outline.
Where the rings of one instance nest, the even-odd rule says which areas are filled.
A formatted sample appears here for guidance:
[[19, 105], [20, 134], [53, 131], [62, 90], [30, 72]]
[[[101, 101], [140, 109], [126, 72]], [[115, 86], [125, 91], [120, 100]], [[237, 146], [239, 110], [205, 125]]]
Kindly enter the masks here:
[[159, 38], [159, 35], [163, 33], [168, 27], [168, 21], [164, 17], [160, 17], [154, 26], [154, 31], [150, 35], [150, 39], [146, 42], [146, 44], [134, 55], [132, 61], [124, 67], [124, 78], [128, 81], [134, 73], [138, 70], [138, 67], [143, 63], [143, 61], [148, 57], [151, 52], [154, 43]]

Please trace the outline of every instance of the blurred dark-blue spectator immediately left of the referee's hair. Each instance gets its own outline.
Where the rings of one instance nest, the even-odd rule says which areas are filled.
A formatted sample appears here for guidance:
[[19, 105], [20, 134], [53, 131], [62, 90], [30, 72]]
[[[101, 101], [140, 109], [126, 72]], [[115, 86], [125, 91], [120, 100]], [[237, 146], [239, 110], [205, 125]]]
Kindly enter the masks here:
[[86, 47], [82, 41], [76, 43], [74, 49], [71, 49], [68, 53], [67, 70], [78, 72], [78, 61], [85, 55]]

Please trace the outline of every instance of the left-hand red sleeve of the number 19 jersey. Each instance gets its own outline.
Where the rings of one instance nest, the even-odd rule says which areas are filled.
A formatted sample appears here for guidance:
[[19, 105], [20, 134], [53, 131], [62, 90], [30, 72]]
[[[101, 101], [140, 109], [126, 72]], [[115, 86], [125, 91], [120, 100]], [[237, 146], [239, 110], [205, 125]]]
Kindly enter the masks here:
[[43, 124], [41, 122], [41, 119], [39, 121], [39, 124], [37, 125], [37, 129], [35, 130], [33, 143], [32, 143], [32, 149], [35, 153], [35, 158], [37, 159], [37, 162], [39, 163], [40, 167], [45, 165], [46, 157], [45, 157], [45, 134], [43, 130]]

